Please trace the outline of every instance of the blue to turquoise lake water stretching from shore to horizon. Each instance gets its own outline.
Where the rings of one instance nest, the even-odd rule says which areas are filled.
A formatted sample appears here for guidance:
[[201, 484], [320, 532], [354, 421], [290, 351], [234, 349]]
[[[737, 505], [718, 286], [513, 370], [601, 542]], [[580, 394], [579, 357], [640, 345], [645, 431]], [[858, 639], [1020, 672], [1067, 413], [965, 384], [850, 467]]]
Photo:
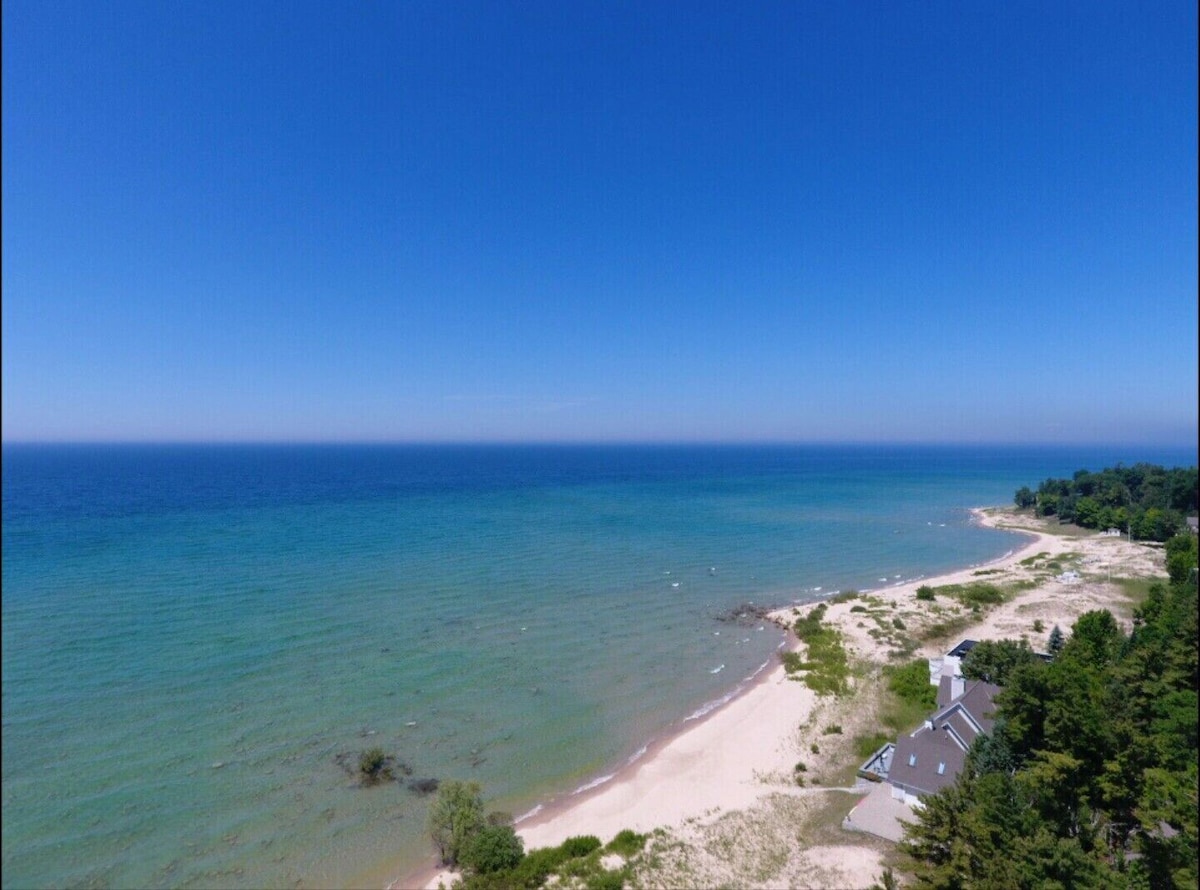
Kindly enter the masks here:
[[1121, 449], [6, 446], [4, 886], [329, 886], [524, 812], [768, 661], [718, 615], [1015, 546], [967, 507]]

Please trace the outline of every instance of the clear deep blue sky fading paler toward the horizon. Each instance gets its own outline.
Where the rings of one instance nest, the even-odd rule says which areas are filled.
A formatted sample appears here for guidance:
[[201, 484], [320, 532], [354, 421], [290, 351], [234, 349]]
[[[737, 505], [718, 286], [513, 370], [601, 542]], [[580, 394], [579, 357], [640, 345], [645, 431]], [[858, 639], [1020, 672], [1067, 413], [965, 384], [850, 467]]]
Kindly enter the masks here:
[[5, 440], [1195, 441], [1190, 0], [2, 14]]

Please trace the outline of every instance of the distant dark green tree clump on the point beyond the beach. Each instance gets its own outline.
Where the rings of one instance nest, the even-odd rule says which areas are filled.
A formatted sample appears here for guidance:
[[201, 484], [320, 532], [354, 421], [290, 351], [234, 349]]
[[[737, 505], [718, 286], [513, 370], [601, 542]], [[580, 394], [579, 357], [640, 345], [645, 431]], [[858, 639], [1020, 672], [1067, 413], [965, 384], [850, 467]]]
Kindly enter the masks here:
[[1057, 516], [1088, 529], [1118, 528], [1144, 541], [1166, 541], [1184, 517], [1196, 512], [1196, 468], [1165, 469], [1148, 463], [1117, 464], [1099, 473], [1078, 470], [1072, 479], [1048, 479], [1013, 497], [1038, 516]]

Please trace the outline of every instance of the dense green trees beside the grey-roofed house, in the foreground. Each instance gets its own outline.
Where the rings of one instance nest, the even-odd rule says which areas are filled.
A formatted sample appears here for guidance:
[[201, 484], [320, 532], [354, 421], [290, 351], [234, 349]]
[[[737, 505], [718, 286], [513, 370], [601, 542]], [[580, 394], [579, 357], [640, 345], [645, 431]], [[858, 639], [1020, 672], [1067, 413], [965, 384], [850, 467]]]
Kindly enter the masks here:
[[964, 663], [1003, 688], [991, 735], [906, 829], [918, 886], [1198, 885], [1195, 536], [1168, 553], [1130, 633], [1088, 612], [1050, 662], [1008, 641]]

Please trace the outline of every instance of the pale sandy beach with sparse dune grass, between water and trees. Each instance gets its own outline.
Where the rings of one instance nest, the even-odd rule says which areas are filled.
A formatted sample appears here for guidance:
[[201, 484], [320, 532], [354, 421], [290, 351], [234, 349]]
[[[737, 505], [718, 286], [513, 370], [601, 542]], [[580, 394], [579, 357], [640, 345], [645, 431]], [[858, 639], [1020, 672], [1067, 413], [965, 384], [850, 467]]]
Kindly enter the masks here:
[[[1055, 625], [1066, 632], [1090, 609], [1108, 608], [1128, 629], [1132, 605], [1126, 589], [1112, 579], [1164, 573], [1160, 551], [1124, 537], [1061, 534], [1056, 527], [1003, 509], [977, 510], [974, 516], [978, 522], [1018, 533], [1013, 549], [983, 566], [829, 603], [824, 620], [841, 631], [851, 660], [866, 666], [856, 678], [853, 694], [818, 697], [790, 679], [776, 662], [743, 694], [685, 724], [611, 781], [521, 822], [517, 830], [526, 849], [558, 844], [572, 835], [607, 841], [623, 829], [659, 829], [658, 836], [666, 838], [662, 848], [668, 852], [668, 867], [660, 877], [640, 876], [648, 885], [670, 886], [680, 874], [694, 885], [870, 885], [883, 867], [884, 842], [850, 832], [839, 837], [827, 830], [812, 832], [805, 843], [806, 838], [796, 836], [794, 825], [803, 824], [806, 812], [830, 801], [848, 812], [862, 796], [854, 796], [853, 780], [847, 778], [858, 765], [850, 739], [878, 728], [864, 703], [870, 700], [872, 687], [877, 690], [878, 668], [888, 663], [895, 643], [890, 632], [881, 632], [884, 624], [872, 620], [871, 612], [886, 613], [887, 626], [899, 619], [914, 636], [938, 621], [956, 619], [946, 638], [929, 638], [910, 659], [940, 655], [947, 644], [961, 638], [1024, 636], [1034, 649], [1044, 650]], [[1074, 575], [1062, 579], [1067, 572]], [[917, 600], [922, 585], [980, 581], [1020, 590], [982, 614], [958, 608], [946, 597], [934, 605]], [[773, 613], [773, 619], [790, 625], [810, 608], [786, 607]], [[794, 637], [788, 645], [797, 645]], [[830, 734], [834, 724], [838, 733]], [[803, 788], [793, 771], [800, 760], [805, 775], [812, 777]], [[822, 776], [840, 776], [840, 782], [821, 781]], [[721, 838], [733, 838], [738, 855], [714, 853], [721, 849]], [[734, 861], [739, 856], [745, 861]], [[437, 888], [452, 879], [451, 872], [426, 871], [391, 888]]]

